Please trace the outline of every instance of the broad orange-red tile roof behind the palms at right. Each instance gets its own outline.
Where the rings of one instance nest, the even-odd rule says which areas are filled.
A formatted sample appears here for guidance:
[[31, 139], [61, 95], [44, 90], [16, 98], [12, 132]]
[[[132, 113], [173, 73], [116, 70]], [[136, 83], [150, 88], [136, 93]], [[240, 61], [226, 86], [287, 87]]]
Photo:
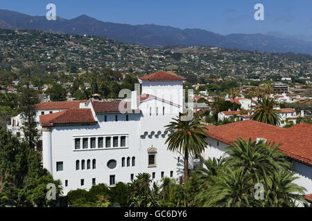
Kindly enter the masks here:
[[312, 124], [300, 123], [291, 128], [280, 128], [270, 124], [245, 120], [216, 127], [207, 127], [207, 134], [221, 142], [230, 144], [238, 138], [282, 144], [280, 150], [288, 157], [312, 165]]

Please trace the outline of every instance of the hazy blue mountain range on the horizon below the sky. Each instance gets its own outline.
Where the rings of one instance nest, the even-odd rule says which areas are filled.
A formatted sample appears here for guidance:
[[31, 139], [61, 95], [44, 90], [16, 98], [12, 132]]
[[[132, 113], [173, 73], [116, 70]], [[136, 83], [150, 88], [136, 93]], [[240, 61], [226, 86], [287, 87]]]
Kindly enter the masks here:
[[10, 10], [0, 10], [0, 28], [18, 30], [43, 30], [46, 32], [105, 37], [127, 44], [150, 48], [166, 46], [217, 46], [239, 50], [263, 52], [295, 52], [312, 55], [312, 41], [288, 39], [263, 34], [219, 35], [198, 28], [173, 28], [155, 24], [129, 25], [104, 22], [80, 15], [74, 19], [48, 21], [45, 16], [31, 16]]

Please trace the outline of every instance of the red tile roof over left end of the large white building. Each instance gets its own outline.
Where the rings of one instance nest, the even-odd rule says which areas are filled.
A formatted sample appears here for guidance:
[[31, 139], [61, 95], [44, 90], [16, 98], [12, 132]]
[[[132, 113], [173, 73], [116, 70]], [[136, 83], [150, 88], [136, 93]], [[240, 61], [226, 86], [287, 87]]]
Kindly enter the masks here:
[[41, 115], [42, 126], [58, 126], [60, 124], [95, 124], [90, 108], [69, 109], [49, 115]]

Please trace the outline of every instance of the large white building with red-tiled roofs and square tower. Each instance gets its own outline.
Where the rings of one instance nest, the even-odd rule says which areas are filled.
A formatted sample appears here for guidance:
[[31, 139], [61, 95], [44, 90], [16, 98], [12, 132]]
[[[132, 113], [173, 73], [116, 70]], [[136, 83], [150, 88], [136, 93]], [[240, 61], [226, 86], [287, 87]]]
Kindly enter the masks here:
[[183, 175], [183, 156], [167, 151], [164, 126], [183, 111], [184, 78], [160, 71], [139, 79], [140, 96], [89, 99], [83, 107], [40, 116], [43, 164], [61, 180], [64, 194], [130, 182], [138, 173], [155, 181]]

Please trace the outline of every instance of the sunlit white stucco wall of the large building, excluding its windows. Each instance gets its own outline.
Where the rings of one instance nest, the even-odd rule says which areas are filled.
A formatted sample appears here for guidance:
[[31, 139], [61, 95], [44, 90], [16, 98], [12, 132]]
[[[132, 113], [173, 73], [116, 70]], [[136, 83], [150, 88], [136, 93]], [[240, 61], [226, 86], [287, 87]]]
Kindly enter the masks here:
[[[98, 114], [95, 116], [98, 120], [96, 125], [52, 128], [52, 174], [55, 179], [61, 180], [64, 194], [72, 189], [91, 188], [92, 178], [96, 178], [96, 184], [105, 183], [108, 185], [110, 184], [110, 175], [115, 175], [116, 182], [130, 182], [131, 174], [134, 174], [135, 177], [138, 173], [150, 173], [150, 175], [155, 173], [154, 181], [160, 182], [162, 172], [164, 172], [165, 177], [170, 177], [171, 171], [173, 171], [174, 178], [183, 174], [183, 156], [180, 153], [167, 151], [167, 145], [164, 144], [168, 138], [168, 134], [164, 133], [164, 126], [171, 121], [171, 118], [178, 115], [179, 108], [158, 99], [148, 99], [142, 102], [142, 105], [152, 107], [151, 115], [149, 111], [148, 113], [128, 114], [129, 120], [127, 122], [125, 121], [125, 114], [119, 114], [118, 122], [116, 122], [116, 114]], [[165, 107], [164, 115], [162, 113], [163, 106]], [[173, 107], [171, 108], [171, 106]], [[158, 115], [156, 114], [156, 107], [159, 108]], [[172, 112], [167, 113], [168, 110], [172, 110]], [[104, 122], [105, 115], [107, 122]], [[75, 149], [75, 138], [120, 135], [128, 137], [128, 142], [126, 141], [128, 145], [123, 148]], [[156, 166], [154, 167], [148, 167], [148, 148], [151, 146], [157, 148]], [[122, 157], [130, 157], [131, 159], [135, 157], [135, 166], [126, 166], [125, 160], [125, 167], [122, 167]], [[180, 162], [178, 162], [179, 157]], [[92, 162], [93, 159], [96, 159], [96, 169], [87, 169], [87, 160]], [[78, 171], [76, 171], [76, 160], [80, 160]], [[81, 170], [81, 160], [85, 160], [85, 170]], [[116, 160], [115, 169], [107, 167], [109, 160]], [[63, 162], [63, 171], [56, 171], [56, 162]], [[192, 160], [189, 162], [192, 169]], [[83, 186], [80, 185], [80, 179], [85, 180]], [[68, 186], [64, 186], [65, 180], [68, 180]]]

